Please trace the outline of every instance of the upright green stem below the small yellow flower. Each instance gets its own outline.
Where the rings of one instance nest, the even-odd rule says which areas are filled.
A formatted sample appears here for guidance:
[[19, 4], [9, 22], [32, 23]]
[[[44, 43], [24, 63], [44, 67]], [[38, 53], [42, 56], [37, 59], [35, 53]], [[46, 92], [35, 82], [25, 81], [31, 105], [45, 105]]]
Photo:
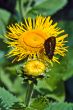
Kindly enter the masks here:
[[31, 82], [31, 84], [28, 83], [27, 93], [26, 93], [26, 97], [25, 97], [26, 107], [29, 106], [29, 104], [30, 104], [30, 99], [31, 99], [32, 94], [33, 94], [33, 87], [34, 87], [33, 82]]

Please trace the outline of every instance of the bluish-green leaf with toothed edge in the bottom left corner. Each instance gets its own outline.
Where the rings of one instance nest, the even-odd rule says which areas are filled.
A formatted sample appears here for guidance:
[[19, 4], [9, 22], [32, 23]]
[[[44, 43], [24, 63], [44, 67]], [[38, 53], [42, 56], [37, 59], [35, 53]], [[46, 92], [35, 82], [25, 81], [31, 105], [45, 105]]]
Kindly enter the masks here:
[[15, 96], [13, 96], [7, 90], [1, 87], [0, 87], [0, 99], [1, 99], [1, 103], [0, 103], [1, 106], [5, 107], [6, 110], [9, 110], [9, 108], [12, 107], [14, 103], [18, 102], [18, 99]]

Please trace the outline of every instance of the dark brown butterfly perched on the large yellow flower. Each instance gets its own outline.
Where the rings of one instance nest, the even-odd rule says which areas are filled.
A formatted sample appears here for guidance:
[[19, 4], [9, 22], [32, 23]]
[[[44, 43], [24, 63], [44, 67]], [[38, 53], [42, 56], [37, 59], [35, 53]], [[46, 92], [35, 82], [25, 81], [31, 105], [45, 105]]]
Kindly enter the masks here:
[[45, 52], [48, 58], [51, 60], [54, 56], [55, 47], [56, 47], [56, 38], [54, 36], [51, 36], [50, 38], [45, 40], [44, 42]]

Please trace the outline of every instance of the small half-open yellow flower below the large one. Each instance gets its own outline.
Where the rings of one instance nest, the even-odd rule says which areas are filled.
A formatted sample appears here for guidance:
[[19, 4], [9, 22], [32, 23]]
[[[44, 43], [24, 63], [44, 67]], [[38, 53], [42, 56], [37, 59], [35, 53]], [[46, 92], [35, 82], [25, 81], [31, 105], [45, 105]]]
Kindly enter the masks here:
[[39, 76], [45, 71], [45, 64], [39, 60], [31, 60], [24, 66], [24, 71], [27, 75]]

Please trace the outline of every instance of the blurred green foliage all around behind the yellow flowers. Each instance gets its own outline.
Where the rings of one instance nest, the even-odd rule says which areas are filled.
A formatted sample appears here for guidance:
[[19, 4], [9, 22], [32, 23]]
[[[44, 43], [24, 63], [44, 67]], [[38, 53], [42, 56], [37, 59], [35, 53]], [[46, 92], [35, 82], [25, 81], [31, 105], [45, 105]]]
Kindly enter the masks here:
[[[12, 58], [8, 59], [5, 56], [9, 51], [7, 44], [5, 44], [6, 38], [4, 37], [7, 26], [22, 21], [23, 17], [31, 16], [35, 18], [37, 15], [53, 16], [65, 7], [67, 3], [67, 0], [17, 0], [16, 14], [0, 8], [0, 107], [2, 107], [2, 110], [10, 110], [10, 107], [16, 102], [23, 103], [27, 88], [26, 83], [23, 84], [23, 78], [18, 76], [18, 73], [21, 74], [20, 68], [23, 62], [12, 64]], [[69, 34], [67, 38], [68, 43], [66, 44], [69, 46], [68, 52], [64, 58], [60, 57], [60, 64], [54, 63], [51, 71], [46, 73], [50, 75], [50, 78], [38, 81], [37, 86], [34, 87], [35, 92], [31, 100], [31, 106], [27, 110], [72, 110], [73, 108], [72, 104], [67, 105], [67, 103], [63, 103], [65, 100], [64, 81], [73, 76], [73, 20], [61, 20], [58, 22], [58, 26]], [[13, 95], [16, 95], [17, 98]], [[45, 100], [43, 97], [41, 100], [36, 99], [39, 96], [53, 99], [59, 103], [49, 104], [48, 101], [41, 101]], [[7, 101], [11, 100], [11, 102], [7, 102], [6, 98]], [[46, 103], [48, 103], [48, 106]], [[66, 106], [65, 109], [64, 106]]]

